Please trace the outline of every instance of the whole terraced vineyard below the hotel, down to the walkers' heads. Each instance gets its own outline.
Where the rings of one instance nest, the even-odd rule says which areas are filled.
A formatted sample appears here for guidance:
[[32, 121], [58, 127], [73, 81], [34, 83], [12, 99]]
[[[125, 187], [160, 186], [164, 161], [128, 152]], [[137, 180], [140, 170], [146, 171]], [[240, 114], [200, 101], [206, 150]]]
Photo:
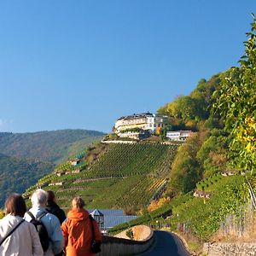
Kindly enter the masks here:
[[[176, 145], [160, 143], [109, 144], [90, 164], [86, 162], [90, 152], [77, 154], [82, 157], [81, 172], [68, 173], [67, 163], [63, 163], [55, 171], [67, 174], [49, 174], [38, 184], [55, 191], [63, 208], [70, 206], [73, 196], [81, 195], [89, 208], [121, 207], [136, 212], [164, 191], [176, 149]], [[26, 196], [35, 188], [27, 189]]]

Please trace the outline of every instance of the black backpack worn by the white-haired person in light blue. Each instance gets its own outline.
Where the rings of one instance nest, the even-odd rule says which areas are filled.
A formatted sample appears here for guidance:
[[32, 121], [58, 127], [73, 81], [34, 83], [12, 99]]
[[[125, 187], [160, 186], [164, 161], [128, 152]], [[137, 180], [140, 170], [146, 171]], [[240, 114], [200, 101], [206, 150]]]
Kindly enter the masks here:
[[36, 230], [38, 231], [41, 245], [43, 247], [44, 252], [46, 252], [49, 248], [49, 236], [44, 223], [41, 221], [41, 218], [43, 218], [44, 215], [47, 214], [48, 212], [42, 212], [37, 218], [35, 218], [32, 212], [28, 211], [26, 213], [32, 218], [30, 222], [34, 224]]

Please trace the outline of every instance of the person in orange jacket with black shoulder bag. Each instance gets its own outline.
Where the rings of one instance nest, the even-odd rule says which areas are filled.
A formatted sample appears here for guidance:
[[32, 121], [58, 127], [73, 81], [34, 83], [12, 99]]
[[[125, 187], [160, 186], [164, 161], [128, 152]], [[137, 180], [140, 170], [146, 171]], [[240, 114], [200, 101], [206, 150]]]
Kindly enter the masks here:
[[73, 198], [72, 210], [67, 213], [66, 221], [61, 224], [67, 256], [95, 255], [90, 252], [93, 239], [92, 224], [95, 240], [102, 242], [99, 226], [95, 220], [90, 218], [89, 212], [84, 209], [84, 200], [79, 196]]

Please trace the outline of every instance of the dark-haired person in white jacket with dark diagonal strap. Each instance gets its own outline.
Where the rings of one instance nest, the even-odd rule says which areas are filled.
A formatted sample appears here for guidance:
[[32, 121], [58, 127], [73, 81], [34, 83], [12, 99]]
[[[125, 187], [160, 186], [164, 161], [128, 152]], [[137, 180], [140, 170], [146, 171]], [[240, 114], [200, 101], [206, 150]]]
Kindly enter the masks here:
[[[33, 224], [23, 221], [26, 212], [23, 197], [19, 194], [9, 195], [5, 201], [5, 212], [7, 215], [0, 220], [0, 241], [7, 238], [0, 246], [0, 255], [43, 256], [37, 230]], [[13, 233], [7, 236], [11, 230], [14, 230]]]

